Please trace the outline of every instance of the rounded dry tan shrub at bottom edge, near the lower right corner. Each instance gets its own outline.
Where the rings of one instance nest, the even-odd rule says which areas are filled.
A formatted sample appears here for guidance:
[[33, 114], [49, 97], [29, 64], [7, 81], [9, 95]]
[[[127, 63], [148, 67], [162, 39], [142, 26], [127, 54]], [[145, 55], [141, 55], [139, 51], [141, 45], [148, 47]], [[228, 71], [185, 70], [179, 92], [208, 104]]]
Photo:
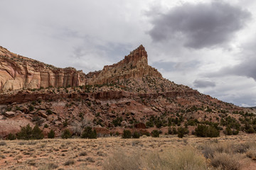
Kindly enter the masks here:
[[241, 159], [241, 154], [216, 153], [214, 157], [210, 159], [210, 164], [216, 168], [239, 170]]

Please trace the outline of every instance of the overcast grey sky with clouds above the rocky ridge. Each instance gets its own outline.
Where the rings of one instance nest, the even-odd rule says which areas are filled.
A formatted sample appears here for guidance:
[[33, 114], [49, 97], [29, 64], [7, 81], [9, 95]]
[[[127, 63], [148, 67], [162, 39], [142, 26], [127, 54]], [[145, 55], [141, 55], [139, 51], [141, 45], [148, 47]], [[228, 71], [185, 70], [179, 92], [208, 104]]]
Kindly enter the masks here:
[[0, 45], [56, 67], [100, 70], [144, 45], [164, 78], [256, 106], [254, 0], [1, 0]]

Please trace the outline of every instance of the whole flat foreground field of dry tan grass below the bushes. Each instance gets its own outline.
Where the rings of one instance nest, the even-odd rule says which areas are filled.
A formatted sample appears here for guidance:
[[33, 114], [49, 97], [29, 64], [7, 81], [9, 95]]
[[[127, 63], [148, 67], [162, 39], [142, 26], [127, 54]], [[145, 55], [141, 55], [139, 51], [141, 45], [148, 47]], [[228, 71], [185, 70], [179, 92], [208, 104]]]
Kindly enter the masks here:
[[[247, 159], [252, 162], [256, 146], [250, 140], [255, 137], [256, 135], [238, 135], [218, 137], [218, 140], [213, 140], [189, 136], [181, 140], [176, 136], [167, 135], [159, 138], [142, 137], [130, 140], [123, 140], [120, 137], [102, 137], [97, 140], [6, 140], [4, 141], [6, 145], [0, 146], [0, 167], [1, 170], [111, 169], [111, 166], [112, 169], [120, 166], [126, 169], [154, 169], [152, 165], [156, 163], [158, 169], [165, 169], [165, 166], [167, 169], [171, 164], [181, 169], [200, 169], [207, 165], [209, 169], [210, 160], [218, 153], [231, 155], [242, 153], [244, 157], [250, 157], [251, 159]], [[124, 152], [116, 152], [118, 150]], [[208, 155], [210, 159], [204, 158], [203, 155]], [[70, 159], [74, 164], [69, 162]], [[46, 164], [49, 160], [54, 160], [54, 164]], [[114, 162], [117, 160], [119, 164]], [[69, 162], [68, 165], [64, 165], [66, 162]], [[121, 163], [123, 165], [120, 165]], [[181, 164], [184, 166], [181, 167]], [[243, 166], [243, 164], [240, 165]]]

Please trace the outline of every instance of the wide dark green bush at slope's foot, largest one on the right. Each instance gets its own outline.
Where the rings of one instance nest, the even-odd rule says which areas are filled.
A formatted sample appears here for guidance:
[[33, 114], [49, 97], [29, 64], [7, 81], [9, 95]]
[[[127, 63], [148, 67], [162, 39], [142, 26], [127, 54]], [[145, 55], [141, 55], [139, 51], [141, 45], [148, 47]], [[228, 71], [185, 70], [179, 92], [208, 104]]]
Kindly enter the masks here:
[[220, 131], [213, 126], [198, 125], [195, 130], [195, 135], [197, 137], [218, 137]]

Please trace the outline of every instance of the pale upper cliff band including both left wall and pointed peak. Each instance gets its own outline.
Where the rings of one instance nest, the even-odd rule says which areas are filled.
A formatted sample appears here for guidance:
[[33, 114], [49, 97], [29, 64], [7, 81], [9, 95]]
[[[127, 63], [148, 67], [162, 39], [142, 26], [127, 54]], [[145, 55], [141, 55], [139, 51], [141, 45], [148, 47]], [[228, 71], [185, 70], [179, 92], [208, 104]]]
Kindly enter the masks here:
[[87, 75], [72, 67], [60, 69], [0, 47], [1, 91], [108, 84], [144, 76], [161, 77], [161, 74], [148, 65], [146, 50], [142, 45], [117, 64], [107, 65], [101, 71]]

